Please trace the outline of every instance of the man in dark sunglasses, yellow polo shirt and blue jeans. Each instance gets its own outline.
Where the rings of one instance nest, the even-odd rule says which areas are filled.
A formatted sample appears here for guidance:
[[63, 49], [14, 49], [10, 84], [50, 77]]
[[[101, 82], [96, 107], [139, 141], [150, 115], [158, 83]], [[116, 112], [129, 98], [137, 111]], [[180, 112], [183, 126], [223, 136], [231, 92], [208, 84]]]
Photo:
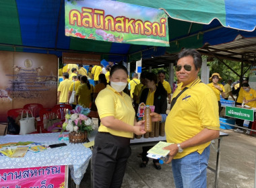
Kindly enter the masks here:
[[[197, 76], [201, 54], [184, 49], [178, 54], [176, 75], [181, 82], [174, 91], [170, 113], [151, 113], [152, 121], [165, 123], [169, 158], [176, 187], [207, 187], [210, 142], [220, 134], [218, 101], [214, 91]], [[176, 103], [175, 103], [176, 101]]]

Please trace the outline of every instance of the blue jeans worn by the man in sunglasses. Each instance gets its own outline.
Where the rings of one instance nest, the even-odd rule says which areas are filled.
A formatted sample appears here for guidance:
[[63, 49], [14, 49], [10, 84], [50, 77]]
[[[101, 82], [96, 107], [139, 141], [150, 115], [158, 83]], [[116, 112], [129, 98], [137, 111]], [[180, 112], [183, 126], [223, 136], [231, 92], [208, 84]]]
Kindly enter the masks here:
[[206, 172], [210, 146], [202, 154], [192, 152], [183, 158], [172, 159], [172, 174], [176, 188], [207, 187]]

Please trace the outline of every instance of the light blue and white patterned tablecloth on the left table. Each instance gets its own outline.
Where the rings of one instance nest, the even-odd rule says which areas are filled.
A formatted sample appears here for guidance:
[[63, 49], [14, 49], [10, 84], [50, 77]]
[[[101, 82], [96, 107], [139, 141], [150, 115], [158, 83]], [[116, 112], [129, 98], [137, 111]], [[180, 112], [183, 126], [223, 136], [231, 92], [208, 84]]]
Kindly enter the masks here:
[[70, 144], [69, 141], [59, 141], [58, 136], [59, 133], [0, 136], [0, 144], [26, 141], [40, 142], [42, 144], [65, 142], [67, 144], [67, 146], [59, 148], [47, 148], [42, 152], [28, 151], [23, 158], [0, 156], [0, 169], [69, 165], [71, 177], [75, 184], [79, 185], [84, 173], [86, 173], [92, 151], [83, 144]]

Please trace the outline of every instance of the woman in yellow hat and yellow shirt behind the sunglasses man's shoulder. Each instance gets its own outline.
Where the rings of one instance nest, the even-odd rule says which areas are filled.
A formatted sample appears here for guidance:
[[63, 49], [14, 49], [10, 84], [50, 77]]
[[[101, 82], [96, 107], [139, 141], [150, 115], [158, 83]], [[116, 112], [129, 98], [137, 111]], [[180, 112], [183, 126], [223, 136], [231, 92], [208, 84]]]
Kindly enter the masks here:
[[220, 77], [219, 73], [214, 73], [212, 74], [212, 77], [210, 77], [210, 81], [212, 81], [212, 83], [207, 84], [210, 88], [212, 88], [212, 90], [214, 91], [217, 97], [218, 105], [219, 105], [219, 114], [220, 114], [220, 111], [222, 110], [222, 105], [220, 103], [220, 95], [222, 95], [222, 98], [225, 98], [224, 86], [218, 83], [219, 81], [221, 81], [221, 79], [222, 77]]

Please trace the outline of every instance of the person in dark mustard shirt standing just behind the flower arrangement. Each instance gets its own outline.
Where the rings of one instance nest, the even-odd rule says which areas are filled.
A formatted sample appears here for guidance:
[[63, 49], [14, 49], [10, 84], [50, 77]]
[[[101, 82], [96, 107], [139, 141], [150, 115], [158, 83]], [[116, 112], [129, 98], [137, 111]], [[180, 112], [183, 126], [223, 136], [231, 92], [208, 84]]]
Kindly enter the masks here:
[[77, 87], [75, 92], [75, 100], [78, 105], [83, 107], [90, 107], [92, 103], [92, 95], [94, 93], [93, 85], [90, 85], [86, 76], [81, 77], [81, 85]]

